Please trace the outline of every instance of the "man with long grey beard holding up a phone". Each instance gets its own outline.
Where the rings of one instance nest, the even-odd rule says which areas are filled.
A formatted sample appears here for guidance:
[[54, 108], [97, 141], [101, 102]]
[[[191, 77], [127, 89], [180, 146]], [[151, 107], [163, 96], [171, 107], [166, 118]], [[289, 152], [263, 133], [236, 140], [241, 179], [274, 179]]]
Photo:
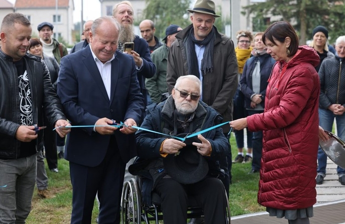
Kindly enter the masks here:
[[134, 58], [137, 67], [140, 91], [144, 96], [146, 107], [151, 103], [151, 100], [145, 88], [145, 78], [151, 78], [156, 73], [156, 66], [151, 60], [148, 43], [133, 32], [134, 14], [130, 1], [124, 0], [115, 4], [113, 17], [120, 24], [117, 49], [123, 52], [125, 42], [134, 42], [134, 50], [131, 51], [130, 55]]

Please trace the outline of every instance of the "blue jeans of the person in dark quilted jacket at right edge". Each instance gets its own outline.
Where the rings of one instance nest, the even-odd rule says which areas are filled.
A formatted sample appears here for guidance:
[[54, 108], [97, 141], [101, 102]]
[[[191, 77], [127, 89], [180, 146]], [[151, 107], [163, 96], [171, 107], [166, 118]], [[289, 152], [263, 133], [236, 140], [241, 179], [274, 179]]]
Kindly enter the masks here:
[[[344, 115], [335, 115], [330, 110], [324, 110], [319, 108], [319, 125], [324, 128], [324, 130], [332, 131], [334, 118], [337, 121], [337, 136], [341, 139], [345, 139], [345, 114]], [[327, 155], [319, 146], [318, 151], [318, 173], [326, 174], [326, 165], [327, 165]], [[337, 173], [345, 174], [345, 169], [337, 167]]]

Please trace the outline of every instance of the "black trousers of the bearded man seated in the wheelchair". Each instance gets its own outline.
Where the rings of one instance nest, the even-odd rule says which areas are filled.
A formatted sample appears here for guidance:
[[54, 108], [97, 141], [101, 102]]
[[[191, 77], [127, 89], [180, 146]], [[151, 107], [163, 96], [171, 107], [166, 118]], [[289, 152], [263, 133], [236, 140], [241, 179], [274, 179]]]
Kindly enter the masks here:
[[187, 222], [187, 199], [193, 196], [202, 207], [205, 224], [225, 224], [227, 195], [223, 183], [207, 177], [195, 184], [180, 184], [172, 178], [162, 178], [154, 189], [162, 200], [164, 224]]

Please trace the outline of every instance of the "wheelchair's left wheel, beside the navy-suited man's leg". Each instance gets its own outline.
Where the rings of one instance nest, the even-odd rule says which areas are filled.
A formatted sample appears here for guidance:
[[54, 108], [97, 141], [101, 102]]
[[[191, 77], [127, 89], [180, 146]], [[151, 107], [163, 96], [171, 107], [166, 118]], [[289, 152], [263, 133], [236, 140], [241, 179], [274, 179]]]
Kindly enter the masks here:
[[122, 189], [121, 224], [140, 224], [141, 195], [134, 178], [127, 181]]

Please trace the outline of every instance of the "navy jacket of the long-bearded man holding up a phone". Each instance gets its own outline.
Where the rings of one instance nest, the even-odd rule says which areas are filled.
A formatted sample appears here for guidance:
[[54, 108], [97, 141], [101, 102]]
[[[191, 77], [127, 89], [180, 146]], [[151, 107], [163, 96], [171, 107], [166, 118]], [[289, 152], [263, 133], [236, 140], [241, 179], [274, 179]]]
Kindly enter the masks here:
[[142, 67], [138, 71], [138, 81], [140, 85], [140, 91], [145, 96], [144, 102], [147, 106], [147, 90], [145, 88], [145, 78], [151, 78], [156, 73], [156, 66], [153, 64], [146, 40], [135, 35], [134, 39], [134, 51], [138, 53], [142, 59]]

